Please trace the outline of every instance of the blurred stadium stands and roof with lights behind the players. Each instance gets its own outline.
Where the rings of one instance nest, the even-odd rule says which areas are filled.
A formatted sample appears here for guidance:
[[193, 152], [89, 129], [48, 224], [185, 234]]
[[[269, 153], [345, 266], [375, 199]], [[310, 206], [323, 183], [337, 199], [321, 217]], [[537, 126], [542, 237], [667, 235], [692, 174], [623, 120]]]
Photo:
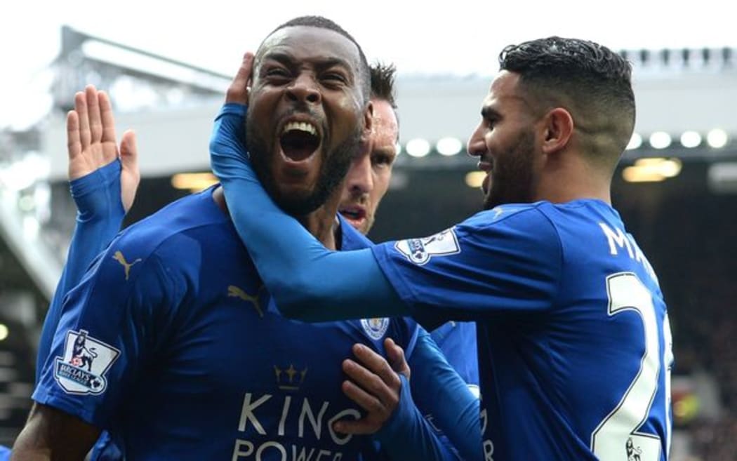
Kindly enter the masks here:
[[[737, 49], [622, 50], [635, 68], [638, 123], [613, 201], [660, 275], [670, 308], [672, 459], [737, 460]], [[35, 345], [66, 258], [74, 204], [65, 113], [93, 83], [118, 134], [139, 135], [143, 181], [126, 225], [203, 189], [207, 142], [229, 76], [62, 29], [52, 112], [0, 131], [0, 443], [32, 392]], [[487, 77], [399, 74], [400, 149], [371, 237], [422, 236], [479, 210], [465, 152]]]

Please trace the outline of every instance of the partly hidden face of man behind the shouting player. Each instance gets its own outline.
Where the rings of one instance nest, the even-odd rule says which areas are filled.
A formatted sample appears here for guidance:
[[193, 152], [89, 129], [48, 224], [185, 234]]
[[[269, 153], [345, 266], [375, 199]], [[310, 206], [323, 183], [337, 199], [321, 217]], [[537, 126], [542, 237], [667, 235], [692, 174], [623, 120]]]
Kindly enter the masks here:
[[374, 225], [376, 210], [391, 180], [391, 166], [397, 158], [399, 124], [397, 114], [383, 99], [371, 99], [374, 123], [371, 134], [361, 143], [346, 175], [338, 211], [360, 233]]

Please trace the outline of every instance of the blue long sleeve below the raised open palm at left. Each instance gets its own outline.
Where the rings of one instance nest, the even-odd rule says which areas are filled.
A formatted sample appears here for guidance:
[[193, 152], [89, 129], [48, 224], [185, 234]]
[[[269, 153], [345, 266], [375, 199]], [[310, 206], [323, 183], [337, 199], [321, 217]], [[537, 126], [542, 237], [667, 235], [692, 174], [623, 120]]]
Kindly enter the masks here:
[[77, 205], [77, 219], [66, 264], [43, 320], [36, 359], [37, 382], [49, 356], [64, 296], [82, 280], [85, 270], [111, 242], [125, 217], [120, 199], [120, 170], [120, 161], [116, 160], [69, 183], [71, 197]]

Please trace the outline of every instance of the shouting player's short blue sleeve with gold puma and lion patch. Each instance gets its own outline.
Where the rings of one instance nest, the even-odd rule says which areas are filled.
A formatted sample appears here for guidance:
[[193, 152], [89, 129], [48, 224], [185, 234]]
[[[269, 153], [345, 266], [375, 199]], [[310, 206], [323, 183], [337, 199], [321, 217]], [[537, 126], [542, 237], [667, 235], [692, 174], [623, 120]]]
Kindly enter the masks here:
[[71, 290], [32, 396], [102, 429], [167, 337], [186, 287], [136, 243], [113, 242]]

